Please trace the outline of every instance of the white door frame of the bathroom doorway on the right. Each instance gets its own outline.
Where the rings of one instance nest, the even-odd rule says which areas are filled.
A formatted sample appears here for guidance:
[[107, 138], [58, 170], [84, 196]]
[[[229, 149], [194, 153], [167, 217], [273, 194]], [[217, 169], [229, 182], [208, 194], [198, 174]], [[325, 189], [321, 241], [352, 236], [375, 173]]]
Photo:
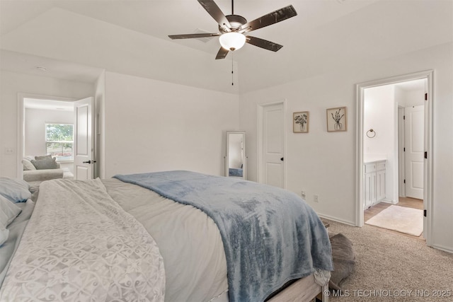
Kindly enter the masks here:
[[402, 76], [394, 76], [386, 79], [379, 79], [374, 81], [367, 81], [364, 83], [357, 83], [355, 85], [355, 95], [356, 95], [356, 134], [355, 134], [355, 144], [356, 144], [356, 171], [355, 171], [355, 184], [357, 187], [356, 190], [356, 215], [355, 215], [355, 224], [356, 226], [362, 227], [364, 224], [363, 221], [363, 110], [364, 110], [364, 91], [366, 88], [371, 88], [375, 86], [383, 86], [394, 83], [400, 83], [404, 81], [412, 81], [417, 79], [427, 79], [428, 80], [428, 100], [425, 100], [425, 137], [424, 137], [424, 149], [427, 152], [427, 156], [424, 161], [423, 169], [423, 206], [426, 210], [425, 219], [423, 219], [423, 236], [426, 239], [426, 244], [428, 246], [432, 245], [432, 103], [434, 100], [434, 95], [432, 91], [433, 87], [433, 70], [419, 71], [413, 74], [405, 74]]

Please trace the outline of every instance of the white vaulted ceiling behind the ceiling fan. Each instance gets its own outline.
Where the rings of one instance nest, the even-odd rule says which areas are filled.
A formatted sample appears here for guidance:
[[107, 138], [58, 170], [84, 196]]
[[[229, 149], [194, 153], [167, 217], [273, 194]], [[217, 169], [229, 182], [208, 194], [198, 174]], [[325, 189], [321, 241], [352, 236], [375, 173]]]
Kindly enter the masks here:
[[[216, 3], [231, 13], [231, 1]], [[196, 0], [0, 0], [0, 68], [86, 82], [107, 69], [246, 93], [453, 41], [452, 0], [236, 0], [234, 13], [251, 21], [289, 4], [298, 16], [251, 33], [282, 50], [245, 45], [215, 60], [217, 37], [167, 37], [217, 32]]]

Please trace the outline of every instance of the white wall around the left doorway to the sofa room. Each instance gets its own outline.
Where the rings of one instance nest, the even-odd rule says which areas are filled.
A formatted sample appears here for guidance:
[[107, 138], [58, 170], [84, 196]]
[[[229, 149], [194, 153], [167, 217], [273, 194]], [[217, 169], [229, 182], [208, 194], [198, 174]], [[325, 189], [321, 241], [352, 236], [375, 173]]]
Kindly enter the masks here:
[[[23, 154], [18, 154], [18, 93], [60, 98], [85, 98], [93, 95], [91, 83], [65, 81], [0, 70], [0, 175], [17, 177]], [[6, 155], [5, 148], [13, 154]]]

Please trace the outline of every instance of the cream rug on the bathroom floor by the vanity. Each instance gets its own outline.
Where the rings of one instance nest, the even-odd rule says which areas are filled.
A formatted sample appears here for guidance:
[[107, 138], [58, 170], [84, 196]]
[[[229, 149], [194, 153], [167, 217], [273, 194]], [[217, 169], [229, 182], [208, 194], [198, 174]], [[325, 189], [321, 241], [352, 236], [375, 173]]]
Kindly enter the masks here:
[[365, 223], [412, 236], [420, 236], [423, 232], [423, 210], [392, 204]]

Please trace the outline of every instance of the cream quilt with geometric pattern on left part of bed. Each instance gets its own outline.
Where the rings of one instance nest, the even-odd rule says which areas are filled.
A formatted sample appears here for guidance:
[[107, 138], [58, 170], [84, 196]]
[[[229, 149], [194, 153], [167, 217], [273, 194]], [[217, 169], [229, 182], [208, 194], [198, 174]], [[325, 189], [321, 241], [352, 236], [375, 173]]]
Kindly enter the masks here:
[[0, 301], [164, 301], [164, 261], [101, 180], [42, 182]]

